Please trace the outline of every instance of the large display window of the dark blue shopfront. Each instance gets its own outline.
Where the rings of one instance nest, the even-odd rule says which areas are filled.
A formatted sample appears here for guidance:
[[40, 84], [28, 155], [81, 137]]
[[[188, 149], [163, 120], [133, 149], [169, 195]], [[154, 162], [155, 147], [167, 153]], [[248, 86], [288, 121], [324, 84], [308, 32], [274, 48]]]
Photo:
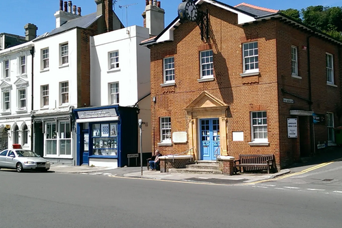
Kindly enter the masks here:
[[92, 125], [92, 155], [118, 155], [118, 123]]

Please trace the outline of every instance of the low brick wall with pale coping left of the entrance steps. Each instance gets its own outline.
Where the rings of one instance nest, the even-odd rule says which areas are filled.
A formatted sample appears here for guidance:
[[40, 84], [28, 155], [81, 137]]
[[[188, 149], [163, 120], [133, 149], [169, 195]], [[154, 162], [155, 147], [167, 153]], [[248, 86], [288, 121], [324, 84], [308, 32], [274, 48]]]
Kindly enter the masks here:
[[170, 168], [187, 168], [194, 164], [192, 155], [167, 155], [160, 158], [160, 173], [168, 173]]

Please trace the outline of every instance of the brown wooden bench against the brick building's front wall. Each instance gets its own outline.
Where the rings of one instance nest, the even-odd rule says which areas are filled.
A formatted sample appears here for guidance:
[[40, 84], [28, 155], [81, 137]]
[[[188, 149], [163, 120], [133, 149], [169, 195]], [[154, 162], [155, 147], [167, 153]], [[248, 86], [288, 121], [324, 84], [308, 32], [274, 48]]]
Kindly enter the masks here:
[[234, 161], [234, 172], [267, 169], [269, 173], [275, 169], [275, 163], [273, 154], [241, 154], [239, 160]]

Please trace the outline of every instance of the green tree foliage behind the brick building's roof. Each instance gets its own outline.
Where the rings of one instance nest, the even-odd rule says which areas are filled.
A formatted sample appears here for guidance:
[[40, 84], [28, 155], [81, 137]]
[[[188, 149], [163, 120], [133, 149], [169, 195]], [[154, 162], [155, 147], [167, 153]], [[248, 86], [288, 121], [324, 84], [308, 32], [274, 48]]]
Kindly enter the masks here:
[[290, 8], [280, 12], [342, 41], [341, 6], [311, 5], [300, 11]]

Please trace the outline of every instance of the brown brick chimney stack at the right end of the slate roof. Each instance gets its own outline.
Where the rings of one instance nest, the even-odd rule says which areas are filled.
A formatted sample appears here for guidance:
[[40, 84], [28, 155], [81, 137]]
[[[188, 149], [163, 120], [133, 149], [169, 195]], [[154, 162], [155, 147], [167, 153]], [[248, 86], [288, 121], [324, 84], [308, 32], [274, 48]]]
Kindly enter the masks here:
[[96, 16], [101, 16], [98, 20], [98, 33], [113, 31], [113, 1], [112, 0], [95, 0], [97, 5]]

